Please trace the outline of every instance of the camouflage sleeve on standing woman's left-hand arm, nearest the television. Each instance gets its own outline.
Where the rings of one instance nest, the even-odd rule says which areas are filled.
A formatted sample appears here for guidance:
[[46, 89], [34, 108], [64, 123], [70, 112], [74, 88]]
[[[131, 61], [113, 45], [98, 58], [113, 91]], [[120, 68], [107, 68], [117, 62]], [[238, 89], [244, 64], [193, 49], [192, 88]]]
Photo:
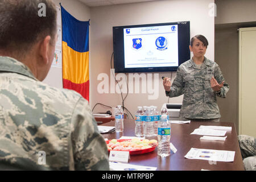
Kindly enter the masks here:
[[178, 97], [181, 96], [184, 93], [184, 84], [183, 84], [183, 78], [181, 75], [180, 67], [177, 68], [176, 77], [174, 78], [174, 82], [172, 82], [171, 85], [171, 91], [166, 91], [166, 96], [169, 97]]

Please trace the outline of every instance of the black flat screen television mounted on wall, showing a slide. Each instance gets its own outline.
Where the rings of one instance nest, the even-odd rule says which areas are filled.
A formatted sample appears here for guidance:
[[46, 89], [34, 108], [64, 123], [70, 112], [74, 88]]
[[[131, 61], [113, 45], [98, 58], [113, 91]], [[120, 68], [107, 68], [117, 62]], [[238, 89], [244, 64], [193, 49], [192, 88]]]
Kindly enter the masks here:
[[116, 73], [176, 71], [190, 59], [189, 21], [113, 27]]

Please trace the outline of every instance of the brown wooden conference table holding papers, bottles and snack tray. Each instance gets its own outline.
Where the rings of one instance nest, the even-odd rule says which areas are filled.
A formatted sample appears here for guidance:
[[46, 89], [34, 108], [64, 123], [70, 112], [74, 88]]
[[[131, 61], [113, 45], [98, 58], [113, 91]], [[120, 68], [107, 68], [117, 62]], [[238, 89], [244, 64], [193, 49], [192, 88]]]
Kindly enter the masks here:
[[[202, 135], [191, 135], [191, 133], [200, 127], [200, 125], [232, 126], [232, 131], [226, 133], [225, 141], [200, 140]], [[114, 121], [104, 123], [102, 126], [114, 126]], [[124, 119], [123, 132], [114, 132], [102, 134], [104, 138], [119, 139], [122, 136], [134, 137], [135, 122], [133, 119]], [[157, 139], [155, 137], [155, 139]], [[157, 167], [156, 170], [240, 170], [243, 171], [243, 162], [240, 147], [238, 144], [237, 133], [234, 123], [228, 122], [191, 122], [189, 124], [171, 124], [171, 143], [177, 149], [177, 152], [171, 152], [168, 158], [160, 158], [157, 154], [157, 148], [147, 154], [131, 155], [129, 164], [140, 166]], [[234, 162], [214, 162], [208, 160], [186, 159], [184, 156], [191, 148], [204, 148], [212, 150], [236, 151]]]

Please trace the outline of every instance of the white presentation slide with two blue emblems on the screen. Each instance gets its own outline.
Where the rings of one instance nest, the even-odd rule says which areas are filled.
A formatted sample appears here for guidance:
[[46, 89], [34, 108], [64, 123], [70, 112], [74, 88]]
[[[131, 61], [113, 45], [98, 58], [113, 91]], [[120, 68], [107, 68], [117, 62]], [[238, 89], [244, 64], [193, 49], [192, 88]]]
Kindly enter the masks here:
[[124, 28], [125, 68], [177, 67], [177, 24]]

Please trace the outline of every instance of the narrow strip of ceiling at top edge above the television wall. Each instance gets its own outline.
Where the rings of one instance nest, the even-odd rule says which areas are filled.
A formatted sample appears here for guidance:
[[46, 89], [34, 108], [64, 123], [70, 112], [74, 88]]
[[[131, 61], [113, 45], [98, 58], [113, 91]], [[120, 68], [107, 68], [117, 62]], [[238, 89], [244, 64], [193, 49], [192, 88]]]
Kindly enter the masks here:
[[136, 3], [136, 2], [147, 2], [147, 1], [166, 1], [166, 0], [79, 0], [85, 3], [86, 6], [108, 6], [126, 3]]

